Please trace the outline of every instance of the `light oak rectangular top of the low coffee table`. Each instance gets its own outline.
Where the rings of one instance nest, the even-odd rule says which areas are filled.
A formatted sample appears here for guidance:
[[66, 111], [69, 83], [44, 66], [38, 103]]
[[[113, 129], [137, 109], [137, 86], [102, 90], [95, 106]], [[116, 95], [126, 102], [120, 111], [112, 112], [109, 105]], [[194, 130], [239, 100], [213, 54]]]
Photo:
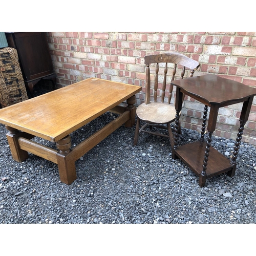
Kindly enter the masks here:
[[0, 123], [56, 142], [140, 90], [140, 86], [88, 78], [1, 109]]

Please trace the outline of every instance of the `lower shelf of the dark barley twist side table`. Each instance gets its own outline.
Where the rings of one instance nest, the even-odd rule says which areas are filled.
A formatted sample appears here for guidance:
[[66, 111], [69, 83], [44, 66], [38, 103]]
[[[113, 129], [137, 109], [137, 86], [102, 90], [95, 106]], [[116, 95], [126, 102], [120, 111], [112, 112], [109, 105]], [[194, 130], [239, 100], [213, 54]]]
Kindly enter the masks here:
[[[206, 141], [196, 141], [179, 146], [175, 155], [180, 158], [198, 176], [203, 169]], [[230, 160], [218, 152], [214, 147], [210, 147], [208, 162], [206, 166], [207, 177], [228, 172], [233, 168]]]

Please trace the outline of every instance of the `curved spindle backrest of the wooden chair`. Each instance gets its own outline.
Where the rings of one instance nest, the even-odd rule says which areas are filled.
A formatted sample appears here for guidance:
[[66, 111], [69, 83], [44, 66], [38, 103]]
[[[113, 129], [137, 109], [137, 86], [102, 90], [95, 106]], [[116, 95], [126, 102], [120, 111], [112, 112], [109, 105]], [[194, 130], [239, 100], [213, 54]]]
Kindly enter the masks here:
[[[157, 91], [159, 86], [159, 82], [158, 82], [159, 63], [161, 62], [165, 63], [164, 77], [163, 77], [163, 83], [162, 83], [161, 102], [164, 102], [164, 98], [165, 98], [167, 70], [168, 70], [167, 63], [174, 64], [171, 81], [175, 80], [177, 65], [182, 66], [182, 71], [180, 75], [181, 79], [183, 79], [185, 75], [185, 69], [190, 70], [189, 77], [191, 77], [193, 76], [195, 70], [197, 70], [200, 67], [200, 63], [198, 61], [194, 59], [190, 59], [189, 57], [177, 52], [167, 52], [167, 53], [161, 53], [161, 54], [155, 54], [155, 55], [146, 55], [144, 57], [144, 60], [146, 65], [146, 95], [145, 95], [146, 104], [150, 103], [150, 90], [151, 90], [150, 64], [156, 63], [155, 83], [154, 83], [154, 90], [153, 90], [154, 102], [157, 102]], [[172, 93], [173, 93], [173, 85], [170, 84], [168, 101], [167, 101], [168, 104], [172, 99]]]

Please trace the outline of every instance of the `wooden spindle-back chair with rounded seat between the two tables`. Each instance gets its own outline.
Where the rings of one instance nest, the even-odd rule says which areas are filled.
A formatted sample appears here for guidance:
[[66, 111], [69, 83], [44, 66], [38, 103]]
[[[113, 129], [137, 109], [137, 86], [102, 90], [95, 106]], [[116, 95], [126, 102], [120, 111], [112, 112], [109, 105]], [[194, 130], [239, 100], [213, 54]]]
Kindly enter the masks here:
[[[138, 137], [141, 132], [146, 132], [158, 136], [168, 137], [170, 139], [170, 144], [173, 148], [174, 146], [174, 136], [172, 133], [172, 129], [170, 127], [170, 123], [175, 121], [175, 105], [170, 103], [172, 100], [173, 86], [170, 84], [169, 92], [166, 90], [166, 80], [167, 80], [167, 71], [168, 71], [168, 63], [173, 63], [173, 72], [170, 74], [172, 76], [170, 82], [175, 79], [177, 75], [177, 65], [178, 68], [181, 66], [180, 77], [183, 79], [185, 75], [185, 70], [190, 70], [189, 77], [193, 76], [195, 70], [197, 70], [200, 66], [199, 62], [189, 57], [177, 53], [177, 52], [168, 52], [161, 53], [156, 55], [147, 55], [144, 57], [144, 62], [146, 65], [146, 84], [145, 84], [145, 102], [138, 106], [136, 110], [137, 115], [137, 124], [134, 136], [134, 145], [138, 143]], [[163, 75], [159, 73], [159, 63], [165, 63]], [[155, 63], [155, 82], [153, 95], [151, 96], [151, 72], [150, 72], [150, 64]], [[170, 66], [170, 65], [169, 65]], [[161, 68], [161, 67], [160, 67]], [[179, 70], [179, 69], [178, 69]], [[162, 83], [158, 81], [158, 78], [163, 77]], [[162, 86], [162, 88], [161, 88]], [[160, 89], [159, 89], [160, 87]], [[165, 96], [168, 96], [165, 98]], [[160, 98], [160, 99], [158, 99]], [[184, 99], [184, 95], [183, 95]], [[167, 100], [167, 101], [166, 101]], [[140, 121], [144, 121], [145, 124], [140, 128]], [[146, 127], [149, 126], [150, 130], [145, 130]], [[168, 135], [153, 132], [152, 126], [158, 127], [160, 129], [167, 129]], [[181, 127], [179, 123], [179, 133], [181, 134]]]

